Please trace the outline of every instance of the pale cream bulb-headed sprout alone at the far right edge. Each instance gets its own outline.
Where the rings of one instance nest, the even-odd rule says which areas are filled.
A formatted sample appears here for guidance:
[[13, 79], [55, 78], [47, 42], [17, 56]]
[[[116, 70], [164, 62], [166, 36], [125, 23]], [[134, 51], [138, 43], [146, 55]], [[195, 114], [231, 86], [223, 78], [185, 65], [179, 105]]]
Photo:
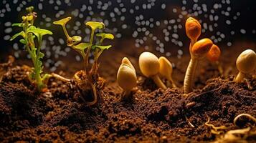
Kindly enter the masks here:
[[246, 74], [256, 69], [256, 54], [252, 49], [242, 51], [240, 56], [237, 58], [237, 69], [240, 71], [237, 77], [234, 79], [235, 82], [242, 82]]

